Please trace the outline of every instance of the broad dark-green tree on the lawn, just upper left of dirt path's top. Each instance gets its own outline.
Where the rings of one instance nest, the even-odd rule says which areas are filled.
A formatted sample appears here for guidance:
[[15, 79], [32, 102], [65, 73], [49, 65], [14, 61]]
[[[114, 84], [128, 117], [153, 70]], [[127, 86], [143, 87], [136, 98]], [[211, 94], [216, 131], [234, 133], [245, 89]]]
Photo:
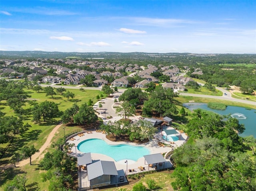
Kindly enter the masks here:
[[33, 121], [40, 122], [42, 117], [45, 122], [48, 119], [58, 116], [59, 109], [56, 103], [46, 100], [39, 105], [34, 105], [33, 111]]

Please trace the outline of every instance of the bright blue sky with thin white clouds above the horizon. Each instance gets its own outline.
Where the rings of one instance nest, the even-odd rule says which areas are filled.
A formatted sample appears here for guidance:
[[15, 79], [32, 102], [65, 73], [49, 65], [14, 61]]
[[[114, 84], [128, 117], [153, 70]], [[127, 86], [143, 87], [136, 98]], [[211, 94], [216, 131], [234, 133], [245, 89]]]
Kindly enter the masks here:
[[0, 0], [0, 50], [256, 53], [255, 0]]

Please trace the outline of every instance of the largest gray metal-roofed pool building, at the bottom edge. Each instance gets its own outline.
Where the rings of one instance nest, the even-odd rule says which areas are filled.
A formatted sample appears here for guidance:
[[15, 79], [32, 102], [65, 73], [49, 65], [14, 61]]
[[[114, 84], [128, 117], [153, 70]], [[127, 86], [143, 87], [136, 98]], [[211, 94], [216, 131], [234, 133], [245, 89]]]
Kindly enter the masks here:
[[87, 165], [87, 174], [90, 188], [96, 188], [116, 183], [118, 172], [114, 161], [96, 161]]

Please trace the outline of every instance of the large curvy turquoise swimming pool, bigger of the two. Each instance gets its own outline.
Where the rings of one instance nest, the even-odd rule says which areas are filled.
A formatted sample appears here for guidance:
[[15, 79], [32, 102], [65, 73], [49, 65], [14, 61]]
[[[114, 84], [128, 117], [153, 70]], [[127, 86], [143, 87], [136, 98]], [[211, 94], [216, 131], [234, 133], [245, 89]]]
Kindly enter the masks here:
[[98, 153], [110, 156], [115, 161], [133, 160], [137, 161], [144, 155], [149, 155], [150, 150], [143, 146], [132, 146], [128, 144], [110, 145], [102, 139], [88, 139], [80, 142], [78, 150], [83, 153]]

